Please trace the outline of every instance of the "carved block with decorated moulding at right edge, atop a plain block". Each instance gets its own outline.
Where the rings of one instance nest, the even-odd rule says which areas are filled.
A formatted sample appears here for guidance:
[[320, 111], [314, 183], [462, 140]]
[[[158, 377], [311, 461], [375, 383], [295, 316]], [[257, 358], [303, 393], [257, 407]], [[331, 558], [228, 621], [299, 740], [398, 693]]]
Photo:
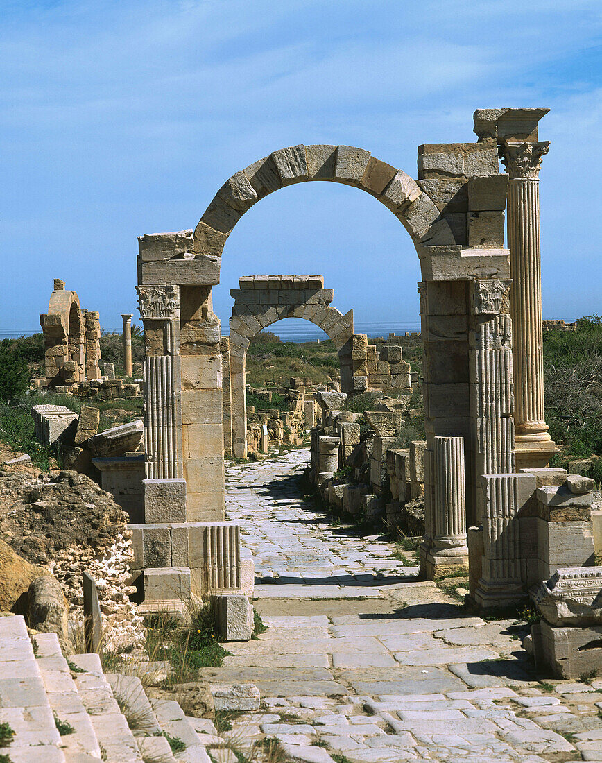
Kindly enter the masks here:
[[602, 567], [557, 569], [533, 600], [552, 626], [602, 625]]

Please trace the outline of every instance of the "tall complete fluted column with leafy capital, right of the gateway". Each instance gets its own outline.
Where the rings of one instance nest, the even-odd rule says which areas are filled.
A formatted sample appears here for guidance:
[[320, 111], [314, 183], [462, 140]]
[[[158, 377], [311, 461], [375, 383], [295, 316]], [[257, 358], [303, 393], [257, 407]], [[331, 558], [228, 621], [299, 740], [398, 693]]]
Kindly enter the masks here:
[[543, 397], [539, 168], [548, 141], [505, 140], [501, 157], [508, 182], [510, 317], [514, 372], [517, 467], [545, 466], [555, 444], [546, 425]]

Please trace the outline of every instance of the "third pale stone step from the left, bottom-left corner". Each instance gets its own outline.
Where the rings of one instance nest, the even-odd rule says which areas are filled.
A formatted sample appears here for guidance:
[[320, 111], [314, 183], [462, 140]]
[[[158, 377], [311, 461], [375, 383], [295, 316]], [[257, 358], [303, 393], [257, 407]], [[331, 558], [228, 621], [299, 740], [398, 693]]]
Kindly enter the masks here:
[[90, 716], [102, 759], [106, 763], [143, 763], [134, 734], [102, 672], [100, 657], [72, 655], [71, 662], [83, 671], [74, 680]]

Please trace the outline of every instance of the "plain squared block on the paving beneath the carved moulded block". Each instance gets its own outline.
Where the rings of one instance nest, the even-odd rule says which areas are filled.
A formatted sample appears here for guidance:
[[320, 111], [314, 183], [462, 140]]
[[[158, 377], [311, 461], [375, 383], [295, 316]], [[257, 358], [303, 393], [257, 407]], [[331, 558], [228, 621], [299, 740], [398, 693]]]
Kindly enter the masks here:
[[541, 620], [531, 626], [536, 667], [556, 678], [580, 678], [602, 671], [602, 626], [554, 628]]

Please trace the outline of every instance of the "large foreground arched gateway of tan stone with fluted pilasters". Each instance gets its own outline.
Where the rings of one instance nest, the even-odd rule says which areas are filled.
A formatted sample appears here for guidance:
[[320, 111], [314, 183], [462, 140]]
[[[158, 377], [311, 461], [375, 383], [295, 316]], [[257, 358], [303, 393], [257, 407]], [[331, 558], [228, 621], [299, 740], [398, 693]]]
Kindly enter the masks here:
[[[520, 119], [515, 118], [519, 113]], [[542, 113], [477, 112], [477, 143], [419, 147], [418, 182], [353, 146], [277, 150], [232, 175], [194, 231], [140, 238], [138, 282], [146, 335], [145, 510], [146, 522], [153, 523], [144, 532], [163, 533], [164, 550], [163, 536], [171, 533], [171, 550], [163, 554], [163, 565], [169, 566], [170, 560], [173, 568], [166, 571], [170, 585], [175, 587], [178, 578], [180, 590], [204, 593], [202, 569], [208, 562], [193, 536], [198, 523], [224, 519], [221, 327], [211, 302], [224, 244], [259, 199], [306, 181], [353, 185], [377, 198], [410, 233], [420, 259], [427, 430], [423, 568], [434, 575], [437, 565], [456, 564], [466, 556], [466, 518], [445, 521], [443, 504], [436, 498], [445, 491], [448, 475], [441, 466], [445, 461], [434, 457], [435, 437], [454, 436], [465, 443], [468, 520], [483, 518], [487, 558], [497, 559], [496, 549], [504, 558], [503, 564], [484, 569], [491, 583], [487, 595], [495, 597], [500, 583], [503, 596], [508, 581], [520, 578], [518, 555], [507, 564], [507, 538], [499, 540], [516, 501], [504, 493], [503, 500], [492, 497], [485, 505], [481, 476], [505, 478], [515, 472], [510, 256], [503, 248], [508, 179], [499, 174], [498, 143], [536, 140]], [[457, 475], [451, 477], [455, 480]], [[177, 539], [175, 525], [169, 524], [173, 522], [179, 523]], [[449, 530], [452, 526], [460, 530]], [[155, 576], [146, 591], [150, 604], [165, 590], [158, 581]]]

